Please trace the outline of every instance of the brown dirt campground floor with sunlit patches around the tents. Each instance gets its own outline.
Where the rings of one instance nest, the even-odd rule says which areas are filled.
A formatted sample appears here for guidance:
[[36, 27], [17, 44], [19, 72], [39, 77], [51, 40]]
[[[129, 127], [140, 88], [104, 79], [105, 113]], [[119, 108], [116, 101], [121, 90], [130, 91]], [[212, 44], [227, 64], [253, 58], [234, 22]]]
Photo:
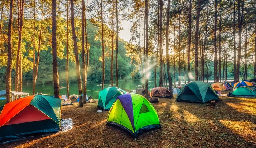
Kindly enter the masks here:
[[[176, 98], [176, 96], [175, 96]], [[96, 113], [97, 103], [63, 106], [62, 118], [72, 118], [67, 132], [0, 144], [0, 147], [256, 147], [256, 99], [220, 97], [218, 108], [206, 104], [160, 99], [153, 103], [162, 129], [135, 140], [106, 125], [108, 111]]]

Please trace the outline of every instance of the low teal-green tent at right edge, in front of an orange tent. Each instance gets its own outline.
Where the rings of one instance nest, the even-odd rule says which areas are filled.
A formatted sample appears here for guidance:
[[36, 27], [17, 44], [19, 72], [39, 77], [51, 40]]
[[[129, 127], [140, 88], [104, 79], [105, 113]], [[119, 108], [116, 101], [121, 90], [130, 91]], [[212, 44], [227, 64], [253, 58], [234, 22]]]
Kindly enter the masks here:
[[229, 96], [256, 97], [256, 91], [246, 86], [237, 87]]

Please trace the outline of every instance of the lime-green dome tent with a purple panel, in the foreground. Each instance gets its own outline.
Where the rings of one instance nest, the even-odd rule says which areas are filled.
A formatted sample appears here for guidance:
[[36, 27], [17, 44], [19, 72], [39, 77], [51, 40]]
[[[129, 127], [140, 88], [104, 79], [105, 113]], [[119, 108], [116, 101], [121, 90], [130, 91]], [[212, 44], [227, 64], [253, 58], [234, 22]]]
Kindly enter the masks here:
[[162, 127], [157, 111], [138, 94], [118, 96], [109, 111], [107, 125], [118, 126], [135, 138], [144, 131]]

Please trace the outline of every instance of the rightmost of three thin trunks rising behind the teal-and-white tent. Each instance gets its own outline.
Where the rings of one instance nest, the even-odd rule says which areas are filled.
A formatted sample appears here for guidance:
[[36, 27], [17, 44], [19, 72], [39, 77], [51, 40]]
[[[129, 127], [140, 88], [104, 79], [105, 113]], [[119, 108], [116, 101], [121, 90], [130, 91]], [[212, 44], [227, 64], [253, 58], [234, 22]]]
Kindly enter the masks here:
[[118, 87], [118, 5], [116, 0], [116, 87]]

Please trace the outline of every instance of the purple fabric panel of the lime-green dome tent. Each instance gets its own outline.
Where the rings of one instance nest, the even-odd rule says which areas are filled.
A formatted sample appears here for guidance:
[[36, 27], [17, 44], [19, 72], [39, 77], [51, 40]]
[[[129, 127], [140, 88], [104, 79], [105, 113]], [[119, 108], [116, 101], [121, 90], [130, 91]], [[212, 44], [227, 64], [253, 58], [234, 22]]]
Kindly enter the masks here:
[[120, 95], [116, 99], [120, 100], [122, 106], [124, 107], [126, 114], [128, 115], [128, 118], [132, 124], [133, 130], [135, 130], [134, 129], [133, 105], [132, 105], [131, 94]]

